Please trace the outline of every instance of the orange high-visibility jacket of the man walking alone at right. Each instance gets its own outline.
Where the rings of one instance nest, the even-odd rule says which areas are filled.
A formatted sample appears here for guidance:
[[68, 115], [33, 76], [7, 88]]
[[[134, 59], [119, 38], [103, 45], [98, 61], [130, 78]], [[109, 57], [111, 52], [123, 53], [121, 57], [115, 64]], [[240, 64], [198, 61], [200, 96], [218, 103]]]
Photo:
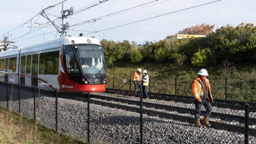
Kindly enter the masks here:
[[[211, 94], [211, 86], [209, 80], [205, 79], [206, 89], [207, 89], [207, 99], [210, 102]], [[192, 82], [192, 94], [196, 100], [200, 100], [203, 97], [203, 82], [201, 81], [200, 77], [197, 77], [196, 80]]]

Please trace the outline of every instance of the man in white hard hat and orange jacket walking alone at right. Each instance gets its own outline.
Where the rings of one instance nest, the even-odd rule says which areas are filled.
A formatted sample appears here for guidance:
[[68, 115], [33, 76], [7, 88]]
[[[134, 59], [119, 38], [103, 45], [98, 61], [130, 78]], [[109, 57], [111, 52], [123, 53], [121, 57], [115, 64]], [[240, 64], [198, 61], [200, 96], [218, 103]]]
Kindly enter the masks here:
[[192, 82], [192, 94], [194, 96], [195, 102], [195, 124], [197, 127], [201, 127], [200, 123], [200, 113], [202, 106], [205, 107], [206, 113], [203, 118], [202, 125], [210, 126], [209, 117], [211, 115], [212, 106], [211, 102], [213, 102], [213, 97], [211, 95], [211, 86], [209, 80], [206, 78], [208, 73], [205, 69], [201, 69], [198, 72], [199, 76]]

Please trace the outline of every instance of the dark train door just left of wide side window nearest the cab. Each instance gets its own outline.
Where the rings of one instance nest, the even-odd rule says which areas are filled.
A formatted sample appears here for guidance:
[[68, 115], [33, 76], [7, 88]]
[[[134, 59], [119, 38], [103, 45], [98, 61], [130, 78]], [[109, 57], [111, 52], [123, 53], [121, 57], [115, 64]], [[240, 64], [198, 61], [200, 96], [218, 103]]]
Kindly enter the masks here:
[[31, 85], [37, 86], [37, 69], [38, 69], [38, 54], [32, 55], [32, 72], [31, 72]]

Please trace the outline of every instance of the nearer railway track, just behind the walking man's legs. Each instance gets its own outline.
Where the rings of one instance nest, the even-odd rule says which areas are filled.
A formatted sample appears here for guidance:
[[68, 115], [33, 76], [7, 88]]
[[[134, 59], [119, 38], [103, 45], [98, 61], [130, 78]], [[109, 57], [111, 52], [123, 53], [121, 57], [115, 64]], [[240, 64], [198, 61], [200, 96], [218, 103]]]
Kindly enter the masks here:
[[[41, 92], [45, 94], [46, 93], [49, 94], [49, 91], [47, 92], [41, 91]], [[107, 94], [107, 95], [104, 95], [104, 94]], [[123, 94], [125, 93], [122, 93], [121, 95], [117, 95], [120, 93], [114, 93], [115, 95], [117, 95], [114, 97], [114, 96], [111, 96], [110, 94], [113, 94], [113, 92], [106, 91], [105, 93], [92, 93], [90, 94], [90, 103], [140, 113], [139, 95], [134, 96], [134, 94], [128, 94], [129, 96], [127, 95], [123, 96]], [[131, 97], [132, 95], [133, 97]], [[76, 93], [75, 96], [74, 96], [74, 93], [58, 93], [58, 97], [87, 102], [86, 94], [83, 94], [83, 93]], [[127, 99], [127, 97], [129, 99]], [[170, 113], [173, 111], [179, 112], [179, 113], [185, 113], [185, 114], [182, 115], [182, 114]], [[148, 114], [151, 116], [157, 116], [157, 117], [162, 117], [167, 119], [179, 120], [182, 122], [194, 123], [195, 119], [193, 117], [193, 113], [194, 113], [193, 109], [161, 105], [161, 104], [155, 104], [150, 102], [143, 102], [143, 114]], [[187, 116], [186, 114], [190, 114], [190, 116]], [[225, 123], [223, 121], [210, 120], [212, 128], [223, 129], [223, 130], [244, 134], [245, 118], [243, 116], [224, 114], [224, 113], [212, 113], [211, 117], [213, 119], [222, 119], [223, 121], [232, 122], [232, 123]], [[253, 125], [253, 124], [255, 125], [256, 118], [250, 117], [249, 123], [250, 125]], [[256, 136], [256, 128], [254, 127], [249, 128], [249, 134]]]

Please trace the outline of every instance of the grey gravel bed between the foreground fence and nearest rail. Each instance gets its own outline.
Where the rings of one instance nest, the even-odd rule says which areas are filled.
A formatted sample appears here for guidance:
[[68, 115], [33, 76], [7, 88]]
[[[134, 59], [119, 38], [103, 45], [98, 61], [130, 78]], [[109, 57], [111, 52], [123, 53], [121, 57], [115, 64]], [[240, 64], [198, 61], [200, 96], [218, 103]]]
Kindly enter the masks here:
[[[6, 102], [5, 102], [6, 103]], [[33, 98], [24, 99], [24, 113], [33, 114]], [[18, 103], [13, 101], [17, 109]], [[0, 103], [3, 105], [3, 101]], [[31, 114], [32, 113], [32, 114]], [[100, 118], [102, 116], [102, 129]], [[107, 129], [107, 117], [110, 116]], [[55, 129], [55, 98], [40, 98], [39, 121]], [[90, 104], [90, 141], [108, 143], [139, 143], [139, 113]], [[101, 133], [100, 133], [101, 131]], [[108, 131], [108, 134], [106, 132]], [[58, 98], [58, 132], [87, 139], [87, 103]], [[100, 140], [99, 140], [100, 139]], [[197, 128], [193, 124], [143, 114], [143, 143], [243, 143], [244, 134], [217, 130], [210, 127]], [[249, 136], [249, 143], [256, 138]]]

